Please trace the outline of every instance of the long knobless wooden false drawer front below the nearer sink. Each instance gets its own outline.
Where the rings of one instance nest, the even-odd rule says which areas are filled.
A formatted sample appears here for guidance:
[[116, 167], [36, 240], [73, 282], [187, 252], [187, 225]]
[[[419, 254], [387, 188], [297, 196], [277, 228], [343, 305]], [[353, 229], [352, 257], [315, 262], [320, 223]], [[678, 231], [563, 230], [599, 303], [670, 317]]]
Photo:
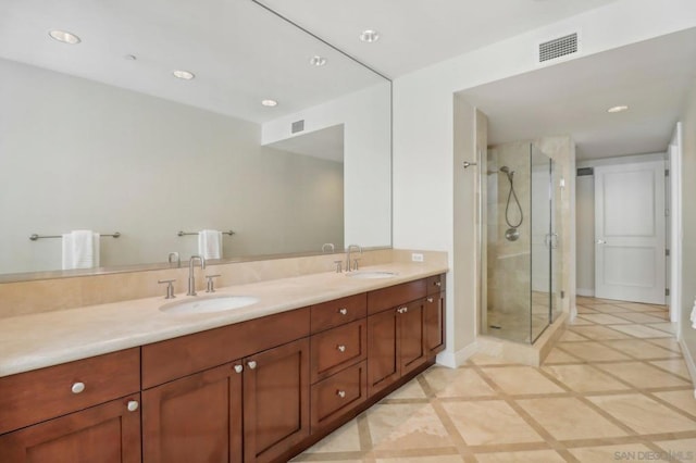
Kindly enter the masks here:
[[309, 336], [309, 308], [142, 346], [142, 389]]

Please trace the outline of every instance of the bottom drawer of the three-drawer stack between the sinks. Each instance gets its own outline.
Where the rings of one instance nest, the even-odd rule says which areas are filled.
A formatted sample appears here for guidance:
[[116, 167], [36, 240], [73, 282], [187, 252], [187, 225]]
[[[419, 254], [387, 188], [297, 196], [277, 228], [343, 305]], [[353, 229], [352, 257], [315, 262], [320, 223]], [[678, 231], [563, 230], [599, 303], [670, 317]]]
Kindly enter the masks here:
[[312, 386], [312, 433], [360, 405], [366, 391], [366, 362]]

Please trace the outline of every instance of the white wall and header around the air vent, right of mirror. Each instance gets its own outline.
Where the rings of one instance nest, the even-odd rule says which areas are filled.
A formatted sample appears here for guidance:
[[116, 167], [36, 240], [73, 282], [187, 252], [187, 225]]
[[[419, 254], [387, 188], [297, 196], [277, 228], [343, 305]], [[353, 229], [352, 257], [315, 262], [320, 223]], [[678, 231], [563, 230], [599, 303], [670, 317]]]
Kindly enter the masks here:
[[[470, 324], [475, 320], [475, 304], [469, 305], [471, 299], [462, 301], [456, 295], [475, 295], [477, 290], [476, 279], [457, 276], [475, 267], [476, 242], [475, 234], [453, 229], [456, 215], [473, 217], [475, 211], [474, 197], [465, 198], [465, 204], [457, 211], [452, 203], [456, 178], [451, 170], [461, 168], [453, 162], [453, 93], [536, 70], [538, 43], [569, 32], [582, 32], [580, 55], [584, 57], [694, 25], [696, 2], [692, 0], [619, 0], [394, 82], [394, 246], [448, 251], [448, 313], [462, 314], [448, 323]], [[472, 138], [473, 133], [464, 136]], [[475, 226], [469, 221], [469, 227]], [[453, 235], [461, 233], [465, 233], [468, 242], [458, 246], [456, 252]], [[463, 329], [475, 331], [473, 325]], [[457, 352], [467, 352], [471, 338], [464, 339], [465, 347], [449, 339], [446, 354], [461, 359]]]

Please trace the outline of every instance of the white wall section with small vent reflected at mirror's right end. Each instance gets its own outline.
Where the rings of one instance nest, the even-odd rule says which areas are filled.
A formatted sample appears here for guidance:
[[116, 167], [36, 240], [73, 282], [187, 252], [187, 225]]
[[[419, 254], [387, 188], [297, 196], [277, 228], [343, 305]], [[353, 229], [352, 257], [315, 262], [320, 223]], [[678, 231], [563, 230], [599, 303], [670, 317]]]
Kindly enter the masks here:
[[[346, 246], [391, 243], [390, 113], [385, 82], [263, 124], [263, 145], [344, 124]], [[304, 130], [291, 134], [296, 121], [304, 121]]]

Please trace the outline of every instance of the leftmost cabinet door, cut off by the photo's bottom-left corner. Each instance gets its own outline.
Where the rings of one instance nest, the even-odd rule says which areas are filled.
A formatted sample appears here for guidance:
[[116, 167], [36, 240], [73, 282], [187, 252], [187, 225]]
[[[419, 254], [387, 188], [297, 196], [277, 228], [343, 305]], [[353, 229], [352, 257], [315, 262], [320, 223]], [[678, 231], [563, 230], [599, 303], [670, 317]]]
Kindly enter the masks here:
[[0, 461], [138, 463], [139, 399], [133, 395], [0, 436]]

